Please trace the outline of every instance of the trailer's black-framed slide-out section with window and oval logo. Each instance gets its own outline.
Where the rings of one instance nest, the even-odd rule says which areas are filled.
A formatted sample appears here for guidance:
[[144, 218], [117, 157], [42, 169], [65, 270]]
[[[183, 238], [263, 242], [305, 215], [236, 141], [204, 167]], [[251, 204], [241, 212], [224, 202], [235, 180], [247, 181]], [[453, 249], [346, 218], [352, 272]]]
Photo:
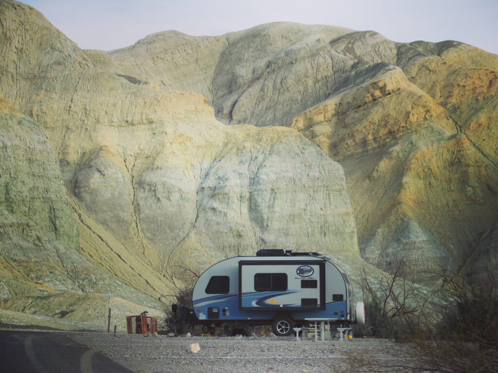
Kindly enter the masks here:
[[325, 263], [289, 260], [239, 262], [239, 308], [325, 309]]

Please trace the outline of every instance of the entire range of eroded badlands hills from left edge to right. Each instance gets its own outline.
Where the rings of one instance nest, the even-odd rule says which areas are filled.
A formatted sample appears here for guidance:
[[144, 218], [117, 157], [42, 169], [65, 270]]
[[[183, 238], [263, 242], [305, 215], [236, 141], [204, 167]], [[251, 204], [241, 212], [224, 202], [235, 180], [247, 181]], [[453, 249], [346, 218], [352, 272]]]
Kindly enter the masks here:
[[4, 322], [160, 313], [260, 248], [498, 271], [496, 55], [293, 23], [81, 50], [10, 0], [0, 35]]

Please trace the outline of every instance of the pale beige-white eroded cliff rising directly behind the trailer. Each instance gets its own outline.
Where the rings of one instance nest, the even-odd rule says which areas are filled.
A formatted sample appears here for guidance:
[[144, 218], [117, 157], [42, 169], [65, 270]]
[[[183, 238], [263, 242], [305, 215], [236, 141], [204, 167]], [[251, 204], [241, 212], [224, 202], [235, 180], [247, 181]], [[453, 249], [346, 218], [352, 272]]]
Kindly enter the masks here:
[[[33, 8], [3, 1], [0, 10], [5, 36], [0, 91], [31, 117], [23, 120], [46, 134], [59, 189], [67, 190], [63, 221], [73, 235], [70, 244], [60, 244], [61, 260], [70, 269], [88, 266], [80, 271], [82, 278], [91, 267], [102, 277], [92, 286], [68, 289], [111, 293], [155, 309], [162, 301], [167, 307], [186, 272], [201, 272], [230, 256], [254, 255], [260, 248], [319, 251], [347, 269], [360, 269], [342, 167], [297, 131], [224, 125], [202, 95], [168, 90], [164, 79], [115, 71], [118, 62], [102, 52], [79, 50]], [[149, 39], [155, 42], [161, 35]], [[25, 162], [19, 168], [24, 172]], [[26, 178], [37, 183], [35, 176]], [[65, 255], [69, 250], [77, 255]], [[5, 255], [10, 252], [29, 261], [15, 247]], [[50, 272], [43, 281], [36, 274], [32, 278], [55, 282]], [[50, 292], [60, 291], [51, 286]], [[14, 293], [6, 283], [4, 292], [8, 297], [33, 290]], [[36, 304], [46, 310], [44, 316], [53, 316], [52, 299], [70, 298], [43, 296]], [[9, 299], [0, 306], [10, 311], [30, 301]], [[102, 298], [84, 299], [83, 308], [104, 307]], [[88, 312], [87, 319], [84, 312], [74, 315], [91, 321]]]

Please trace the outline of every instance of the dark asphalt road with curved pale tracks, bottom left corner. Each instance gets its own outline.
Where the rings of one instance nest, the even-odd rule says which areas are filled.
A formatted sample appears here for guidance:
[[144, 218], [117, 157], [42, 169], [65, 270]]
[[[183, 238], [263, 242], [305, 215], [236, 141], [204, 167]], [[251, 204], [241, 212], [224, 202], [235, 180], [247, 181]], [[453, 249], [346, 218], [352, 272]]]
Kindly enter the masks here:
[[63, 332], [0, 331], [0, 359], [5, 373], [131, 373]]

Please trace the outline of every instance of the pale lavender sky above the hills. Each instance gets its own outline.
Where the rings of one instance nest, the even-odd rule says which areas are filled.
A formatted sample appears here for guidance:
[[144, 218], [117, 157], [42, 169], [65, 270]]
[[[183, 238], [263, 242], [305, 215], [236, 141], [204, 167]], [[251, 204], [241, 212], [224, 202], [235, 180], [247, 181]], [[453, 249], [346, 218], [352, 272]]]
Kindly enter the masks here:
[[222, 35], [275, 21], [374, 30], [397, 42], [458, 40], [498, 54], [498, 0], [25, 0], [83, 49], [160, 31]]

